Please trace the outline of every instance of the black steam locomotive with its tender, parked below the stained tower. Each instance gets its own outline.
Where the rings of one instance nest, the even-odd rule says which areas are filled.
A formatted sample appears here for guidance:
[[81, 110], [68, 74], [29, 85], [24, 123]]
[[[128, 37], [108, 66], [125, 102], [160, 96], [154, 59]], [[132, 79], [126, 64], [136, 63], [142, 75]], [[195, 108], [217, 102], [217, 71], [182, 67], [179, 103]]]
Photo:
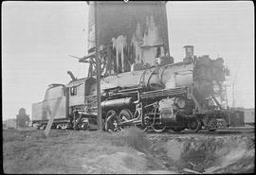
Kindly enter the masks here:
[[[190, 55], [188, 52], [184, 61], [176, 63], [171, 57], [160, 57], [155, 66], [101, 78], [105, 130], [118, 131], [126, 125], [154, 131], [227, 128], [229, 111], [220, 99], [225, 98], [223, 82], [228, 69], [221, 58]], [[56, 128], [86, 130], [97, 125], [97, 79], [75, 79], [68, 73], [72, 80], [67, 85], [51, 84], [44, 101], [33, 104], [33, 123], [45, 128], [48, 112], [61, 98]]]

